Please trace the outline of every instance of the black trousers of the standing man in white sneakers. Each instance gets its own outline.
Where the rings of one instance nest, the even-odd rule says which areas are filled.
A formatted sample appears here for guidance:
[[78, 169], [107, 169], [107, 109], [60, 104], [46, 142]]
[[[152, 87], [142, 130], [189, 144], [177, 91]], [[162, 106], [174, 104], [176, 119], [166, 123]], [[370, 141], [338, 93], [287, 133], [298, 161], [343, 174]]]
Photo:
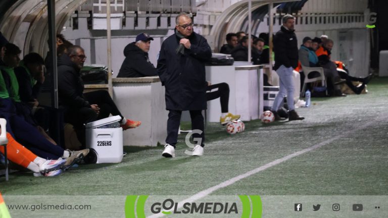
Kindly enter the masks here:
[[[191, 118], [191, 129], [192, 130], [201, 130], [202, 134], [192, 134], [193, 138], [201, 138], [201, 146], [204, 147], [205, 144], [205, 128], [204, 128], [204, 116], [202, 116], [202, 111], [189, 111]], [[168, 113], [167, 120], [167, 138], [166, 143], [175, 147], [178, 141], [178, 130], [180, 125], [180, 117], [182, 111], [173, 111], [170, 110]]]

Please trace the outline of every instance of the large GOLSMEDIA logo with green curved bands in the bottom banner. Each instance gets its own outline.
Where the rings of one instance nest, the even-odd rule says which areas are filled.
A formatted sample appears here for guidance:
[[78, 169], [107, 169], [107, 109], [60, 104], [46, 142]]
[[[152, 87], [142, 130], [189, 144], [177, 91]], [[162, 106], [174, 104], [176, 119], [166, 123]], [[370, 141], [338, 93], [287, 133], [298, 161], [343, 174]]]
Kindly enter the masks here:
[[[146, 217], [146, 211], [151, 217], [174, 214], [236, 214], [241, 218], [258, 217], [262, 215], [262, 202], [259, 195], [239, 195], [241, 204], [225, 200], [203, 202], [176, 202], [172, 198], [162, 201], [151, 201], [146, 205], [148, 195], [129, 195], [125, 201], [125, 217]], [[236, 196], [235, 196], [236, 197]], [[234, 200], [236, 198], [233, 198]], [[238, 200], [237, 200], [238, 201]], [[241, 208], [242, 205], [242, 208]], [[149, 207], [149, 208], [147, 208]], [[252, 213], [251, 213], [252, 212]]]

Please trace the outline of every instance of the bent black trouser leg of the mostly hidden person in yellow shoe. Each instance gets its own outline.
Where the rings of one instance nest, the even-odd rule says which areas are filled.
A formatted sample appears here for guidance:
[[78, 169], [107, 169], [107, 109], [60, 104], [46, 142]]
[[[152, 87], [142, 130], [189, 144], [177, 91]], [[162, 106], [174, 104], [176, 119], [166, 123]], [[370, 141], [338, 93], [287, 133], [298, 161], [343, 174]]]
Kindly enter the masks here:
[[[218, 88], [217, 91], [211, 91], [212, 89]], [[229, 112], [229, 85], [227, 83], [217, 83], [214, 85], [210, 85], [207, 87], [206, 100], [213, 100], [216, 98], [220, 98], [221, 103], [221, 113]]]

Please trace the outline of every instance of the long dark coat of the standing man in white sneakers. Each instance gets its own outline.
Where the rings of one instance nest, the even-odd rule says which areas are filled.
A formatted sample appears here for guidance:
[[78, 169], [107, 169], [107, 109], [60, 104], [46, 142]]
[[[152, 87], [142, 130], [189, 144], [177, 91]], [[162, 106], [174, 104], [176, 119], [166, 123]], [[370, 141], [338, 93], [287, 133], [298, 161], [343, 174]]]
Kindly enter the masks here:
[[205, 110], [205, 62], [212, 51], [207, 40], [193, 32], [188, 39], [190, 49], [176, 54], [179, 38], [173, 34], [162, 43], [158, 60], [158, 75], [166, 87], [166, 109], [177, 111]]

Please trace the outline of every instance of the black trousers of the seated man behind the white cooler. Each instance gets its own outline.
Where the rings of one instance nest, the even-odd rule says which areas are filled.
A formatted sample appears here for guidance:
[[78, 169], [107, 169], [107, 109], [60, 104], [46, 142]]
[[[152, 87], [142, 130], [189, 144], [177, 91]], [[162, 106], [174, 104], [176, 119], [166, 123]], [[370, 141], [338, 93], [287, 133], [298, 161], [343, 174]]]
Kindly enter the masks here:
[[83, 146], [86, 145], [84, 124], [107, 118], [110, 114], [113, 116], [119, 115], [121, 119], [124, 118], [107, 91], [98, 90], [87, 92], [84, 93], [84, 97], [90, 104], [99, 105], [99, 115], [97, 115], [90, 107], [81, 107], [76, 110], [70, 108], [70, 110], [65, 113], [65, 122], [74, 126], [77, 138]]

